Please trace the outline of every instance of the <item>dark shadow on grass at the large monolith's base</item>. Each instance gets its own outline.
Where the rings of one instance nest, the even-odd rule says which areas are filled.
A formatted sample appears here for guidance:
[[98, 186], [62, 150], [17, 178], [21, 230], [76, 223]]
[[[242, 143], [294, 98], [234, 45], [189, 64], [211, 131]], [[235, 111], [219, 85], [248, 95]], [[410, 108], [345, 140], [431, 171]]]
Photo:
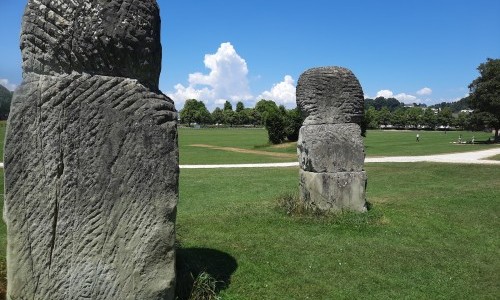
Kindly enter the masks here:
[[207, 273], [216, 280], [215, 292], [218, 294], [229, 287], [231, 275], [237, 268], [234, 257], [218, 250], [177, 249], [177, 299], [189, 299], [194, 281], [201, 273]]

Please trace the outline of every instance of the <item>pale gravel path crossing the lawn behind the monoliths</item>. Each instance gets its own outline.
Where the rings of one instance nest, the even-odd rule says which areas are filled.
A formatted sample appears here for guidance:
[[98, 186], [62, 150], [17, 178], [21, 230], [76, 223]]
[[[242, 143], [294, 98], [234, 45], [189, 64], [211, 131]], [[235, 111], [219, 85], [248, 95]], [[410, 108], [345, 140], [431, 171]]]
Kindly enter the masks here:
[[[453, 164], [500, 165], [498, 160], [487, 160], [500, 154], [500, 147], [475, 152], [436, 154], [424, 156], [389, 156], [367, 157], [365, 163], [403, 163], [403, 162], [438, 162]], [[298, 167], [298, 162], [263, 163], [263, 164], [232, 164], [232, 165], [180, 165], [181, 169], [231, 169], [231, 168], [288, 168]], [[0, 163], [3, 168], [3, 163]]]

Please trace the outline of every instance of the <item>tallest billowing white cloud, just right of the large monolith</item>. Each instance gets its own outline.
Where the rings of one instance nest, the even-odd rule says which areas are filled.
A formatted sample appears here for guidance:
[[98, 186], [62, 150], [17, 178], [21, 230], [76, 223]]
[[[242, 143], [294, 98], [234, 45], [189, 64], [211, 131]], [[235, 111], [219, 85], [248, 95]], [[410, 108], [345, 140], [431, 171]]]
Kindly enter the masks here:
[[215, 54], [205, 55], [205, 67], [210, 73], [189, 74], [189, 85], [177, 84], [168, 96], [177, 108], [184, 106], [187, 99], [202, 100], [209, 109], [220, 105], [221, 100], [231, 102], [253, 99], [248, 85], [248, 67], [231, 43], [222, 43]]

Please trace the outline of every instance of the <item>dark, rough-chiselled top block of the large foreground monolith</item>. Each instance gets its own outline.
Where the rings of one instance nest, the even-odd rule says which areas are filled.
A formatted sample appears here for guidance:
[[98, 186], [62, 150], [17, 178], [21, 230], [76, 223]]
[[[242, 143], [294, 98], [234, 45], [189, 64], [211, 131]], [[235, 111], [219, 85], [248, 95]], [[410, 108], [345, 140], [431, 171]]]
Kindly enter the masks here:
[[158, 89], [160, 15], [155, 0], [29, 0], [21, 51], [25, 73], [88, 73]]

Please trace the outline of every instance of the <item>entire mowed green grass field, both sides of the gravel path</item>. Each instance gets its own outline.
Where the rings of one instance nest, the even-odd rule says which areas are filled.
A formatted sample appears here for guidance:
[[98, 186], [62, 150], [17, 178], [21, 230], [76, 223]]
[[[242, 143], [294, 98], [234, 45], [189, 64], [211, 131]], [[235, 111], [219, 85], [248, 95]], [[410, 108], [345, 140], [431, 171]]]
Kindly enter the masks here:
[[[413, 132], [370, 131], [366, 145], [369, 156], [492, 147], [449, 144], [453, 134], [421, 132], [416, 144]], [[193, 144], [295, 153], [293, 145], [267, 145], [262, 129], [181, 129], [181, 163], [281, 159]], [[298, 190], [297, 168], [182, 169], [180, 271], [211, 274], [222, 299], [498, 298], [500, 167], [367, 164], [366, 171], [368, 213], [313, 218], [277, 207], [279, 196]], [[1, 222], [2, 262], [5, 246]]]

